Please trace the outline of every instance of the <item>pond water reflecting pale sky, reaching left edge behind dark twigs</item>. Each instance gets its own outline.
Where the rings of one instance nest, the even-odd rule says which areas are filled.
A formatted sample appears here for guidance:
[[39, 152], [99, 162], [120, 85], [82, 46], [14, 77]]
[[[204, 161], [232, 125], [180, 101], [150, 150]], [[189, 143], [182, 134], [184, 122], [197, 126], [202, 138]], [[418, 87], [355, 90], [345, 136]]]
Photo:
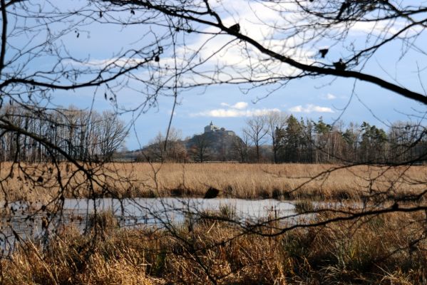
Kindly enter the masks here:
[[[1, 205], [0, 207], [5, 207]], [[260, 219], [289, 217], [294, 222], [295, 207], [290, 201], [276, 199], [202, 199], [202, 198], [135, 198], [135, 199], [65, 199], [56, 214], [36, 211], [41, 205], [14, 202], [6, 205], [7, 217], [0, 219], [0, 247], [8, 252], [16, 239], [43, 237], [61, 224], [74, 224], [82, 232], [88, 217], [95, 213], [112, 212], [121, 227], [151, 225], [164, 227], [188, 219], [206, 216], [230, 217], [237, 222], [256, 222]], [[46, 226], [47, 225], [47, 226]]]

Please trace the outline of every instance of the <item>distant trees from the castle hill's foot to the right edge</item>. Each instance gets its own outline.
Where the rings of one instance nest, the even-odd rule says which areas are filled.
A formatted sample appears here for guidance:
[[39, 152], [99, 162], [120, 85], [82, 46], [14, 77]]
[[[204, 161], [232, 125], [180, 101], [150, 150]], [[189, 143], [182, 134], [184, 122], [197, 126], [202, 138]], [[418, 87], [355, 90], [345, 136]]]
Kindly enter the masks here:
[[272, 112], [249, 118], [242, 136], [231, 142], [212, 142], [206, 133], [182, 140], [174, 129], [168, 141], [159, 133], [142, 153], [139, 160], [162, 162], [421, 163], [427, 138], [426, 128], [416, 123], [396, 122], [384, 130], [366, 122], [331, 125]]

